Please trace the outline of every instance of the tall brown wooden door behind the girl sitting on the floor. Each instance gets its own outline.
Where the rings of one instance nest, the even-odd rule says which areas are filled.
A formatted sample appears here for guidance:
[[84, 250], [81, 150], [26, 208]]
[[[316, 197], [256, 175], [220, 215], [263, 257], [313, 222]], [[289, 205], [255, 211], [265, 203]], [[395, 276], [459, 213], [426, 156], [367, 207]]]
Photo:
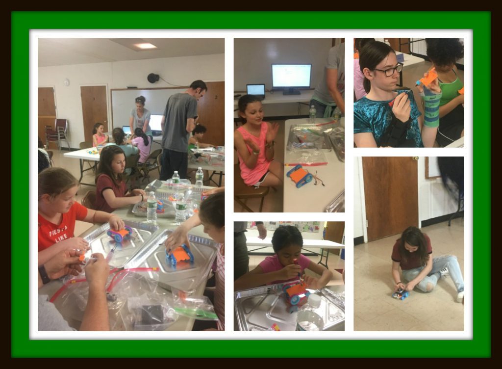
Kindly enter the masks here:
[[363, 157], [368, 241], [418, 227], [417, 158]]

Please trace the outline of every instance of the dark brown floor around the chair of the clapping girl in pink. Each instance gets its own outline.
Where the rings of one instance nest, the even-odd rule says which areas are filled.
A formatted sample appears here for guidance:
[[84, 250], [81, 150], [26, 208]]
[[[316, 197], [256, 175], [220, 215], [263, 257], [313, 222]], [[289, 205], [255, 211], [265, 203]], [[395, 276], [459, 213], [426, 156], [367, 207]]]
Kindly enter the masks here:
[[[281, 163], [284, 163], [284, 121], [268, 121], [270, 123], [277, 122], [279, 123], [279, 133], [275, 139], [274, 151], [276, 160], [279, 160]], [[240, 124], [239, 124], [240, 125]], [[234, 125], [235, 126], [235, 125]], [[237, 127], [235, 127], [237, 128]], [[233, 150], [233, 163], [237, 163], [237, 152]], [[270, 190], [269, 194], [265, 197], [263, 202], [263, 213], [282, 213], [283, 211], [283, 196], [284, 189], [282, 187], [277, 187], [277, 191]], [[253, 209], [255, 212], [258, 212], [260, 209], [261, 199], [248, 199], [245, 201], [245, 204]], [[235, 201], [233, 202], [233, 211], [234, 212], [246, 212], [244, 208], [237, 204]]]

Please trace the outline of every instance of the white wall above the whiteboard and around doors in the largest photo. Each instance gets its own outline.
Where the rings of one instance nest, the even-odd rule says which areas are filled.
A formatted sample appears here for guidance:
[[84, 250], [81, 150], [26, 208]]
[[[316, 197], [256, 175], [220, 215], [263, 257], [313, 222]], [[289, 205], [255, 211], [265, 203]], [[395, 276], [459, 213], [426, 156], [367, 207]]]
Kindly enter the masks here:
[[[136, 86], [172, 87], [159, 80], [148, 82], [150, 73], [159, 74], [166, 81], [177, 85], [189, 85], [196, 79], [222, 81], [225, 79], [224, 54], [186, 56], [162, 59], [118, 61], [109, 63], [76, 64], [38, 68], [39, 87], [54, 87], [56, 115], [69, 123], [70, 145], [78, 147], [84, 141], [82, 101], [80, 86], [106, 85], [108, 128], [111, 127], [110, 89]], [[63, 84], [65, 78], [70, 85]], [[134, 101], [131, 102], [131, 109]], [[145, 106], [148, 109], [148, 102]]]

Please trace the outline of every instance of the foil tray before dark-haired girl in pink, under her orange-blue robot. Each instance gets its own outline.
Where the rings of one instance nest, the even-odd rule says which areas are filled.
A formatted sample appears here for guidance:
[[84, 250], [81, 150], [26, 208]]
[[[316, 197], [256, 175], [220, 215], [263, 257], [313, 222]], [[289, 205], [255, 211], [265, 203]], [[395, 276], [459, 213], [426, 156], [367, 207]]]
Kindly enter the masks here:
[[[299, 308], [286, 302], [282, 287], [283, 284], [278, 284], [235, 292], [235, 315], [241, 331], [267, 331], [274, 323], [282, 331], [296, 330]], [[335, 294], [327, 288], [309, 291], [321, 296], [321, 306], [316, 312], [323, 317], [323, 330], [344, 330], [344, 294]]]

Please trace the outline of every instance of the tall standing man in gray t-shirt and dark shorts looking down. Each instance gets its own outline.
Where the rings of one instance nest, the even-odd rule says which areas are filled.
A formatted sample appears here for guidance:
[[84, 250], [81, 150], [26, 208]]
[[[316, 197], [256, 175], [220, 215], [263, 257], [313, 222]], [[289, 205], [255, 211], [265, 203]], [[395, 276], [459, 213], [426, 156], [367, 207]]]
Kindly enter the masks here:
[[188, 139], [195, 128], [197, 101], [206, 91], [207, 85], [196, 80], [184, 93], [175, 94], [167, 101], [161, 121], [163, 153], [160, 180], [171, 178], [175, 170], [180, 178], [186, 178]]

